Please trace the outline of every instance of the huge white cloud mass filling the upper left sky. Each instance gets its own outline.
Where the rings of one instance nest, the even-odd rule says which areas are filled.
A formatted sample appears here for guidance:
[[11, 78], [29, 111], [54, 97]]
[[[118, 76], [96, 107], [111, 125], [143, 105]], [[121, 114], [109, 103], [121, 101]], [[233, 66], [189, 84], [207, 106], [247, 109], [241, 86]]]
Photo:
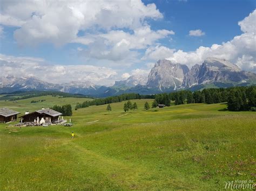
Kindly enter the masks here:
[[151, 29], [147, 20], [163, 15], [154, 3], [141, 0], [3, 0], [1, 5], [0, 24], [18, 27], [14, 38], [19, 46], [79, 43], [86, 45], [79, 55], [91, 59], [138, 61], [138, 49], [174, 34]]

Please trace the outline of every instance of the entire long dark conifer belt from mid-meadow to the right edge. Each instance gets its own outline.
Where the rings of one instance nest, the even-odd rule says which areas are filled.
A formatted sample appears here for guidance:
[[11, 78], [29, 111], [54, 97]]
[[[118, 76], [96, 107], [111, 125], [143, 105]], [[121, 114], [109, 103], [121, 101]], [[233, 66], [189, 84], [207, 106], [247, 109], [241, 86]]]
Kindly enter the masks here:
[[[228, 110], [256, 110], [256, 86], [250, 87], [230, 87], [230, 88], [208, 88], [198, 91], [180, 90], [171, 93], [163, 93], [156, 95], [140, 95], [140, 94], [122, 94], [119, 96], [111, 96], [99, 98], [92, 101], [77, 103], [76, 110], [86, 108], [91, 105], [103, 105], [127, 100], [153, 98], [152, 108], [156, 108], [158, 104], [170, 106], [173, 101], [175, 105], [186, 103], [223, 103], [227, 102]], [[127, 104], [127, 103], [126, 103]], [[126, 111], [131, 110], [130, 105], [125, 106]], [[145, 108], [148, 108], [147, 106]]]

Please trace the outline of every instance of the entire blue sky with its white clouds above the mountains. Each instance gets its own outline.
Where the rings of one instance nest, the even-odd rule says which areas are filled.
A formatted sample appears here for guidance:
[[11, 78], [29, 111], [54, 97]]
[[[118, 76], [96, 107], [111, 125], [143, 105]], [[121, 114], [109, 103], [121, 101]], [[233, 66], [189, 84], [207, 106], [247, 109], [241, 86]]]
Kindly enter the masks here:
[[[101, 6], [100, 0], [98, 4], [90, 2], [45, 5], [1, 1], [2, 60], [18, 62], [29, 70], [28, 58], [42, 58], [38, 67], [61, 68], [61, 75], [52, 78], [53, 82], [66, 81], [64, 76], [69, 71], [65, 66], [76, 69], [82, 65], [86, 66], [85, 75], [78, 80], [98, 84], [145, 75], [155, 61], [163, 58], [191, 67], [206, 56], [221, 56], [242, 69], [256, 70], [255, 33], [251, 28], [247, 30], [255, 26], [255, 1], [138, 0], [133, 5], [129, 1], [105, 1]], [[88, 9], [96, 11], [88, 13]], [[246, 17], [249, 22], [239, 25]], [[235, 36], [241, 36], [241, 42]], [[240, 47], [245, 41], [249, 42], [247, 49]], [[219, 47], [212, 47], [214, 44]], [[204, 48], [197, 51], [200, 46]], [[6, 63], [1, 65], [6, 67]], [[99, 75], [97, 69], [104, 68], [109, 74]], [[69, 74], [71, 80], [77, 80], [75, 74]], [[98, 77], [93, 77], [96, 74]], [[30, 69], [20, 75], [37, 73]]]

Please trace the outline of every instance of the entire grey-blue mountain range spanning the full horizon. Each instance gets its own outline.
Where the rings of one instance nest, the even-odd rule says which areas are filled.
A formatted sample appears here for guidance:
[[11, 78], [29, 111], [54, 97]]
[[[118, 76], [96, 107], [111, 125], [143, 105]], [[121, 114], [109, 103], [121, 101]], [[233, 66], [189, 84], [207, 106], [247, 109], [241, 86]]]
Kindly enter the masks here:
[[207, 58], [189, 69], [169, 60], [158, 60], [149, 75], [137, 74], [116, 81], [112, 87], [97, 86], [90, 81], [49, 83], [36, 77], [0, 77], [0, 93], [17, 90], [56, 90], [97, 97], [123, 93], [156, 94], [178, 89], [198, 90], [206, 87], [248, 86], [256, 84], [256, 74], [242, 71], [225, 59]]

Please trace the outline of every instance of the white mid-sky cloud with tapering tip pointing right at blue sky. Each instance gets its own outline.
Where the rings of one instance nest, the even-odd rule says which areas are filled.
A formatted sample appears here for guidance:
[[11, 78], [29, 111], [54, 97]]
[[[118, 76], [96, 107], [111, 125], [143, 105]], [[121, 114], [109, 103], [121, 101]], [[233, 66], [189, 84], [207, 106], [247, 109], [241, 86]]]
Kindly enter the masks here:
[[[93, 43], [87, 43], [84, 56], [106, 60], [136, 60], [138, 49], [144, 49], [156, 43], [157, 40], [174, 34], [173, 31], [152, 31], [149, 25], [139, 27], [133, 34], [123, 30], [112, 30], [107, 33], [92, 35]], [[82, 38], [80, 38], [82, 39]]]

